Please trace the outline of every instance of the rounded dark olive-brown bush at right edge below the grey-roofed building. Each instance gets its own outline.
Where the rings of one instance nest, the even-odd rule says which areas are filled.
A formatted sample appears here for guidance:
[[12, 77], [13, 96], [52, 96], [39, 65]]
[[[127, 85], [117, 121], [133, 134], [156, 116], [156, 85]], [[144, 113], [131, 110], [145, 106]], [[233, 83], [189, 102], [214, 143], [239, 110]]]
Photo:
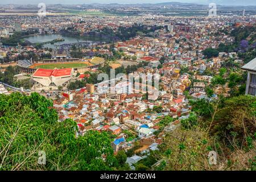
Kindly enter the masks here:
[[[217, 133], [225, 142], [236, 140], [245, 146], [247, 137], [256, 133], [256, 98], [241, 95], [224, 101], [212, 122], [212, 133]], [[220, 107], [220, 106], [219, 106]]]

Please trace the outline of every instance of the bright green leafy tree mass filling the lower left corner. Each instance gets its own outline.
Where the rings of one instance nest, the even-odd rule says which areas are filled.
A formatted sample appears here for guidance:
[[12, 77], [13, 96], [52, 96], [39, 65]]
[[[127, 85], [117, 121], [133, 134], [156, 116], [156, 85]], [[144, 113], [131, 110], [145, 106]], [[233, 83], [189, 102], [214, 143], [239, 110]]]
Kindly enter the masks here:
[[[76, 137], [77, 123], [58, 122], [53, 102], [32, 93], [0, 95], [0, 170], [112, 170], [117, 167], [112, 136], [88, 131]], [[46, 165], [38, 152], [46, 152]], [[103, 159], [105, 158], [105, 160]]]

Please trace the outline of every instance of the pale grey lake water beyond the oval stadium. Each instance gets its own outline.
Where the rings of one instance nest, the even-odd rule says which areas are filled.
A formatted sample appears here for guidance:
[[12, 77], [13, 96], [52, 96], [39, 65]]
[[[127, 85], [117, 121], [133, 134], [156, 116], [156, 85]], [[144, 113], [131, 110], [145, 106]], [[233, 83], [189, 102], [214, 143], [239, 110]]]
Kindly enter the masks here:
[[[27, 38], [24, 38], [24, 40], [28, 40], [31, 43], [44, 43], [44, 42], [52, 41], [52, 40], [57, 39], [57, 38], [65, 39], [65, 41], [57, 42], [57, 43], [54, 43], [54, 44], [44, 44], [43, 47], [56, 48], [56, 46], [61, 46], [62, 44], [87, 42], [84, 39], [72, 38], [72, 37], [68, 37], [68, 36], [61, 36], [61, 35], [58, 35], [58, 34], [28, 36]], [[92, 41], [89, 41], [89, 42], [92, 42]]]

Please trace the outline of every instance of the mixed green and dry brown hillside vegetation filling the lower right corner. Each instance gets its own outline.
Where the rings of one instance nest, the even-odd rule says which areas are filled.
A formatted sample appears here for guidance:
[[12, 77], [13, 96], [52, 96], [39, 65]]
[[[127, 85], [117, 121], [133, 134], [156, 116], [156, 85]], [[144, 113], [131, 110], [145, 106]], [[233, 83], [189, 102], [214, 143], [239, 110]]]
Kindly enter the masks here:
[[[238, 96], [190, 100], [192, 113], [170, 132], [159, 133], [163, 143], [137, 163], [143, 170], [256, 170], [256, 98]], [[174, 119], [164, 117], [161, 128]], [[216, 152], [216, 163], [209, 154]], [[139, 154], [138, 154], [139, 155]], [[158, 159], [158, 165], [151, 159]], [[141, 169], [141, 168], [140, 168]]]

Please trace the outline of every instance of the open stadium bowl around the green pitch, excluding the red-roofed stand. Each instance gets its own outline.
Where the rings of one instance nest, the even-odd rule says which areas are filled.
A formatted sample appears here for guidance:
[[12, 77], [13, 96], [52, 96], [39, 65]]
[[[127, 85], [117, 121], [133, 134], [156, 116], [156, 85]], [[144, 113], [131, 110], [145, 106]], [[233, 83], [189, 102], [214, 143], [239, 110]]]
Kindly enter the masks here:
[[65, 69], [73, 68], [74, 73], [84, 73], [93, 69], [97, 69], [104, 64], [105, 60], [101, 57], [92, 57], [88, 60], [68, 59], [65, 55], [58, 55], [55, 59], [43, 60], [42, 63], [33, 63], [32, 60], [20, 60], [17, 66], [20, 72], [27, 74], [34, 74], [37, 69]]

